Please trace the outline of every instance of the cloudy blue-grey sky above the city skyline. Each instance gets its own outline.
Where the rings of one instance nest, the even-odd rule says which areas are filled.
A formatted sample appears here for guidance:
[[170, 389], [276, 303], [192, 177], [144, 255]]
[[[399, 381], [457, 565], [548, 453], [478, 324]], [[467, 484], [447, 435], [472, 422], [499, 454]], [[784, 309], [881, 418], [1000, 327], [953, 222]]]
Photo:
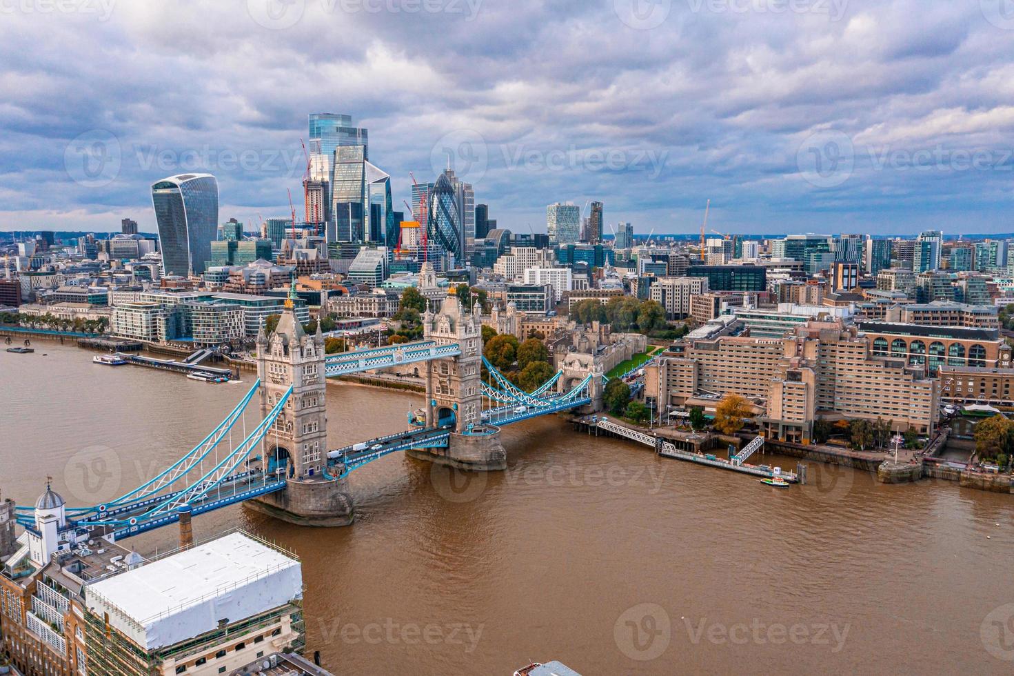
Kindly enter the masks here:
[[0, 229], [301, 211], [311, 112], [501, 226], [1014, 231], [1014, 0], [0, 0]]

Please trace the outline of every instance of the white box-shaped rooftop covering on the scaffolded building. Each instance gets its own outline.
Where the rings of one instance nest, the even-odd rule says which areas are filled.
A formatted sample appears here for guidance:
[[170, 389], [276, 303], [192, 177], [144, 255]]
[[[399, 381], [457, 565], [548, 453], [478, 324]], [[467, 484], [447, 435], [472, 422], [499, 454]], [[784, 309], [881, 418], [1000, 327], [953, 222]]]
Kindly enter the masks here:
[[299, 561], [232, 533], [85, 588], [89, 611], [146, 651], [302, 598]]

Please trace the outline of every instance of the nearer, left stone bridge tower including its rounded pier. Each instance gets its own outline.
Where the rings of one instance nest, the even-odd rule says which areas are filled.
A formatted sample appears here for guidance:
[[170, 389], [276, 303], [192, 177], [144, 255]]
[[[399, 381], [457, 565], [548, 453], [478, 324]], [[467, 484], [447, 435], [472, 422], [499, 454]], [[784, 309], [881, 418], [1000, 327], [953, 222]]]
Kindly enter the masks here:
[[270, 337], [264, 327], [257, 338], [261, 415], [293, 386], [292, 395], [263, 442], [264, 468], [286, 477], [285, 490], [246, 504], [303, 526], [347, 526], [353, 520], [346, 480], [328, 473], [323, 336], [317, 326], [308, 335], [294, 311], [295, 286], [289, 292], [278, 327]]

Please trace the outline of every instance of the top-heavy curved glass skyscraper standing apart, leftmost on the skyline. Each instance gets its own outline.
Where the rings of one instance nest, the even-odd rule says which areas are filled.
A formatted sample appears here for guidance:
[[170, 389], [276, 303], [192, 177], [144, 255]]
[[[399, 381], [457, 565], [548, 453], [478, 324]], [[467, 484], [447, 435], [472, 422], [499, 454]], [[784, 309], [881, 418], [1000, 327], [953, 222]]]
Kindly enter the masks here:
[[151, 202], [164, 274], [203, 273], [218, 234], [218, 181], [210, 174], [168, 177], [151, 186]]

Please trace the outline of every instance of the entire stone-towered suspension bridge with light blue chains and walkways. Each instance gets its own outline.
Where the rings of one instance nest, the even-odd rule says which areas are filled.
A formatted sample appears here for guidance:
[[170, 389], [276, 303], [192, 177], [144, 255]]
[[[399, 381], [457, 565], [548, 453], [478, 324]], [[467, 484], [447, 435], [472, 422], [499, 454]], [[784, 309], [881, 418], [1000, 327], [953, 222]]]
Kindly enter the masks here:
[[[483, 357], [480, 320], [453, 293], [438, 312], [423, 315], [423, 340], [334, 355], [325, 354], [319, 327], [313, 335], [303, 330], [293, 298], [290, 293], [270, 336], [262, 327], [257, 382], [215, 429], [115, 499], [62, 504], [58, 515], [17, 508], [17, 522], [26, 529], [19, 555], [52, 554], [91, 538], [119, 540], [174, 523], [186, 546], [193, 517], [237, 502], [294, 524], [346, 526], [355, 513], [349, 475], [374, 460], [407, 453], [465, 470], [502, 470], [503, 426], [580, 407], [594, 410], [601, 400], [600, 369], [582, 371], [581, 364], [568, 364], [534, 392], [515, 387]], [[411, 428], [328, 449], [325, 379], [414, 362], [425, 364], [426, 401]], [[260, 412], [248, 424], [255, 400]]]

